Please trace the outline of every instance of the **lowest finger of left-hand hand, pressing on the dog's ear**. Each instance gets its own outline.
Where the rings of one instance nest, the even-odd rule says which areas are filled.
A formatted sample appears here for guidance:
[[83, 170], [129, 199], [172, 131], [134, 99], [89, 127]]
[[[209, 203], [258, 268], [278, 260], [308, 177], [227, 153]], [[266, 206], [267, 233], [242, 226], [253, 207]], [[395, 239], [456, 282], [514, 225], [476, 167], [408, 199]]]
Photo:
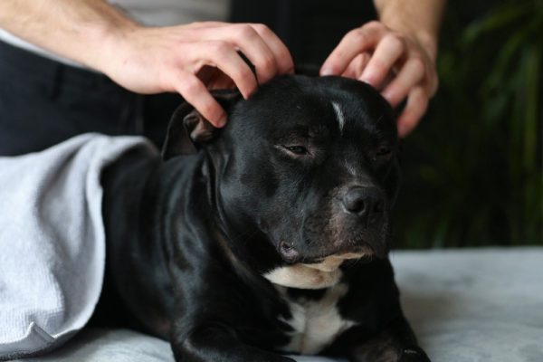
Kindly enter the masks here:
[[175, 88], [214, 127], [220, 128], [226, 124], [226, 113], [223, 108], [194, 74], [182, 73]]

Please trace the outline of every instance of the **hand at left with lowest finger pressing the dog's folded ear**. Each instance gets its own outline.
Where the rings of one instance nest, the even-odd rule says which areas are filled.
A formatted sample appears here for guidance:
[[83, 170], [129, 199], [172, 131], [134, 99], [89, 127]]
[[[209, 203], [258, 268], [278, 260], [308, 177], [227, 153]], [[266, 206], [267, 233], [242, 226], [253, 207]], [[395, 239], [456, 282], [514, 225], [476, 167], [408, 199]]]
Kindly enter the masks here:
[[[236, 86], [246, 99], [258, 83], [294, 68], [286, 46], [262, 24], [133, 26], [107, 42], [100, 71], [138, 93], [176, 91], [215, 127], [224, 126], [226, 115], [210, 89]], [[255, 66], [258, 82], [237, 51]]]

